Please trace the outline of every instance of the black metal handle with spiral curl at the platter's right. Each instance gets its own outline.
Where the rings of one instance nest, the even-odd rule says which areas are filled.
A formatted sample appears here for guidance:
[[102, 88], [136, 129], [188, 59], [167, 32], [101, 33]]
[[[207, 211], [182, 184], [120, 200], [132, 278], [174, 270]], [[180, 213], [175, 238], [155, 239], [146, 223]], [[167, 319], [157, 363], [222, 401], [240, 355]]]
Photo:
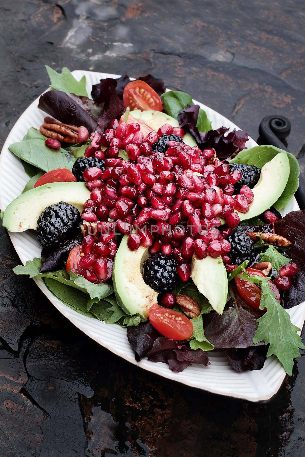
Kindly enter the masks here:
[[[269, 115], [263, 118], [259, 124], [258, 132], [260, 143], [272, 144], [276, 148], [289, 152], [286, 145], [281, 141], [288, 137], [291, 130], [291, 123], [285, 116]], [[295, 192], [295, 198], [300, 209], [305, 209], [305, 180], [300, 175], [300, 186]]]

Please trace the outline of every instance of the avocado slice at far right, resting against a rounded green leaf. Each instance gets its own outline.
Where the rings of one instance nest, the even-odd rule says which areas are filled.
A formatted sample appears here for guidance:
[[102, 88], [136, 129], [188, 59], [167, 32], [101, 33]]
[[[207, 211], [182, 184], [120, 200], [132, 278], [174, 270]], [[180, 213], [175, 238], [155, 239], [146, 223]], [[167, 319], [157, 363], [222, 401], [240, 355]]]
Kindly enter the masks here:
[[267, 162], [252, 192], [253, 202], [247, 213], [238, 213], [241, 221], [254, 218], [269, 209], [284, 192], [290, 173], [289, 159], [285, 152], [278, 153]]

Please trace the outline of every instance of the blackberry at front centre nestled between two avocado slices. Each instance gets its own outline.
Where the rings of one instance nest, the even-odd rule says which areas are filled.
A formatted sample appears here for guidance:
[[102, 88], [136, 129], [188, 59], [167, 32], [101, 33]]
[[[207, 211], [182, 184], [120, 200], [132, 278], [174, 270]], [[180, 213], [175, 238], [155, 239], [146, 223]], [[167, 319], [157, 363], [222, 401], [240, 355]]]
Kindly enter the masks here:
[[171, 292], [177, 280], [177, 262], [172, 257], [156, 254], [143, 264], [144, 282], [156, 292]]

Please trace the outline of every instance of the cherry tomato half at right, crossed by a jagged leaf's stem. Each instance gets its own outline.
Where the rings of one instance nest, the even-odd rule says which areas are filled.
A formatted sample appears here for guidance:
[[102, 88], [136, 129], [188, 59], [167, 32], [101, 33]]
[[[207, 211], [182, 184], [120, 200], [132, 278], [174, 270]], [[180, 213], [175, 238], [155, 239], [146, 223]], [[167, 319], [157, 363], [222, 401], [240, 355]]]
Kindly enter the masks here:
[[[262, 271], [255, 270], [254, 268], [246, 268], [246, 271], [252, 276], [267, 277]], [[278, 288], [273, 282], [268, 281], [268, 283], [270, 284], [271, 290], [275, 293], [278, 303], [280, 303]], [[256, 284], [253, 284], [253, 282], [238, 277], [235, 277], [235, 284], [241, 298], [252, 308], [259, 309], [262, 297], [261, 289]], [[264, 311], [266, 311], [266, 308], [264, 308]]]

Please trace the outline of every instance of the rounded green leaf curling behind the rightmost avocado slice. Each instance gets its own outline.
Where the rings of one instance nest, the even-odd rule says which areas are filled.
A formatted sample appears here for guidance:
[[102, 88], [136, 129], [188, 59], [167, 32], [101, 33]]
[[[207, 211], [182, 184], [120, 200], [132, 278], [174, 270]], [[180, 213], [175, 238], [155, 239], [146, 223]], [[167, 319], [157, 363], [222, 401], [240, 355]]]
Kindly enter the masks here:
[[[255, 165], [258, 168], [262, 168], [267, 162], [272, 160], [273, 157], [275, 157], [280, 152], [285, 151], [271, 145], [255, 146], [254, 148], [244, 149], [241, 151], [236, 155], [234, 159], [230, 161], [230, 163]], [[287, 205], [299, 187], [300, 167], [298, 161], [293, 154], [290, 154], [289, 152], [286, 154], [289, 159], [290, 173], [282, 195], [273, 205], [277, 210], [280, 210]]]

